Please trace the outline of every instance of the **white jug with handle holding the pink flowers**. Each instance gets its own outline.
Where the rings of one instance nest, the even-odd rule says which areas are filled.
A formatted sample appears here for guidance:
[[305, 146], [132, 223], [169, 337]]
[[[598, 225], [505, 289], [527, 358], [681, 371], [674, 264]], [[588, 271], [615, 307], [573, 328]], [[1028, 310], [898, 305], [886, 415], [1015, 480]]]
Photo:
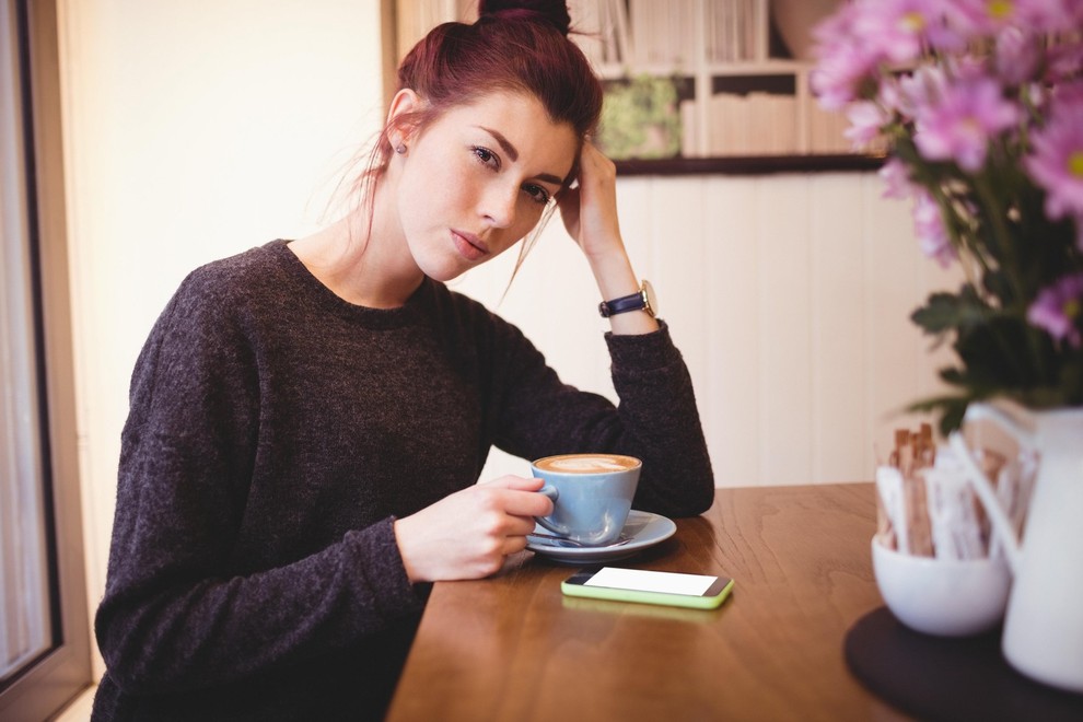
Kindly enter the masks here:
[[974, 404], [966, 422], [987, 419], [1038, 452], [1038, 475], [1022, 540], [959, 432], [951, 444], [967, 467], [1014, 581], [1004, 657], [1033, 679], [1083, 692], [1083, 408], [1009, 415]]

